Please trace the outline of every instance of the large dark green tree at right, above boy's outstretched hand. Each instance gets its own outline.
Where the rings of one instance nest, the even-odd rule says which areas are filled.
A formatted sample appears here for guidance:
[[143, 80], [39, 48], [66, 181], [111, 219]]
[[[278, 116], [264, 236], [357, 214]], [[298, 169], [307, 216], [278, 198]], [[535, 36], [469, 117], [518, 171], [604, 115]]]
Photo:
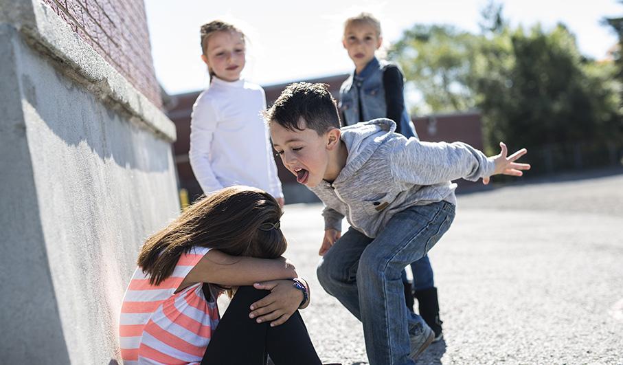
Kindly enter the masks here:
[[616, 137], [618, 98], [608, 69], [583, 57], [564, 25], [499, 34], [477, 63], [473, 87], [490, 144], [538, 148]]

